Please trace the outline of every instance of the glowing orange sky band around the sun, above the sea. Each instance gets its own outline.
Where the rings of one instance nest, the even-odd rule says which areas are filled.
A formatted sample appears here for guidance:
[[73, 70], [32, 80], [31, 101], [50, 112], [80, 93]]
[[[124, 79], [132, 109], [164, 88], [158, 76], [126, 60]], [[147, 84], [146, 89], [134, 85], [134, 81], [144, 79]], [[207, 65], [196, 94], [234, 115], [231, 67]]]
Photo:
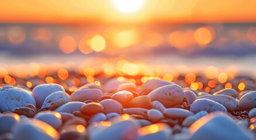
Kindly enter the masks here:
[[36, 23], [198, 23], [256, 22], [256, 1], [144, 0], [122, 13], [111, 0], [0, 0], [1, 22]]

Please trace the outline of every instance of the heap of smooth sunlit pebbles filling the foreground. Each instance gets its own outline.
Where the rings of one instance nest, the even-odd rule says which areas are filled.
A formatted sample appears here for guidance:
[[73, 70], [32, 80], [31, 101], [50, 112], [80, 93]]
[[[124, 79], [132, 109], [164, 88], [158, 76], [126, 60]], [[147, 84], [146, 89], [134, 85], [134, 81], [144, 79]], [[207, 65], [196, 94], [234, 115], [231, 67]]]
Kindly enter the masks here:
[[[104, 87], [104, 88], [102, 88]], [[0, 139], [256, 139], [256, 91], [198, 93], [162, 79], [0, 88]]]

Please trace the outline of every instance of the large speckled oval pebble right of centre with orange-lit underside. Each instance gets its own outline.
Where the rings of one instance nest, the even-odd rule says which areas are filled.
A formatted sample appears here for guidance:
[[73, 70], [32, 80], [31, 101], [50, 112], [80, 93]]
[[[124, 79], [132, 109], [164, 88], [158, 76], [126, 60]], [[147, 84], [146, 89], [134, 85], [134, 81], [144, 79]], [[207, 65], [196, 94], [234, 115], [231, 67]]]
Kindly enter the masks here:
[[151, 98], [151, 101], [160, 101], [165, 107], [174, 107], [177, 104], [181, 104], [184, 92], [181, 86], [172, 84], [161, 86], [150, 92], [147, 96]]

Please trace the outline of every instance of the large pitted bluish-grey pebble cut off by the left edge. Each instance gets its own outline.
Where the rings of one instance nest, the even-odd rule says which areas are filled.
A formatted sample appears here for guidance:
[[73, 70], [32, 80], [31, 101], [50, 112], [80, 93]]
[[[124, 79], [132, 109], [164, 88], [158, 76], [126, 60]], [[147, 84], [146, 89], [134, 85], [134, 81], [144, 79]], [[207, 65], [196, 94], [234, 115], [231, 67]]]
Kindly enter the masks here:
[[0, 111], [12, 111], [18, 107], [25, 107], [27, 104], [36, 106], [36, 100], [32, 93], [25, 89], [13, 86], [4, 86], [0, 90]]

